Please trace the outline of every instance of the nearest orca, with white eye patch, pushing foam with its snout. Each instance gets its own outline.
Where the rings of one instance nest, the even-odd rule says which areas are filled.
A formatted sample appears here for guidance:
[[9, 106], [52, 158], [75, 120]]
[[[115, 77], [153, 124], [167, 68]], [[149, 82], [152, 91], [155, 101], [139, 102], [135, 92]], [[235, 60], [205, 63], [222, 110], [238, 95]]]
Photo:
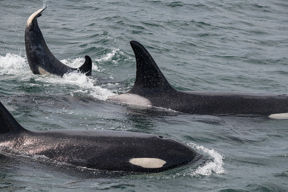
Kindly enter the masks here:
[[[0, 147], [56, 162], [123, 173], [156, 173], [202, 158], [190, 146], [148, 133], [24, 129], [0, 102]], [[204, 162], [204, 161], [203, 161]]]

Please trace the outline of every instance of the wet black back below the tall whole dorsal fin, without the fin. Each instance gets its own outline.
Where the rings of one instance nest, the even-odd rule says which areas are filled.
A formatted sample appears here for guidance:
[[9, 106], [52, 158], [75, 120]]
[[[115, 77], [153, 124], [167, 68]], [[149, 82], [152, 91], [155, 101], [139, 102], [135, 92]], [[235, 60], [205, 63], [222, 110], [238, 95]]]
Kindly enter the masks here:
[[274, 93], [170, 89], [139, 91], [137, 94], [149, 99], [153, 106], [170, 108], [187, 114], [257, 114], [269, 116], [288, 112], [288, 97]]

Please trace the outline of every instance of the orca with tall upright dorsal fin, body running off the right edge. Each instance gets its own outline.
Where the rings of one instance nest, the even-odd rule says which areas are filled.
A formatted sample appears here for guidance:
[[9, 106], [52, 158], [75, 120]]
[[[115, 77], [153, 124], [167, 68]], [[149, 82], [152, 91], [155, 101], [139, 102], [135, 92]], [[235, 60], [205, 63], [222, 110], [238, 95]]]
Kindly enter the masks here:
[[234, 91], [179, 91], [166, 80], [152, 56], [137, 41], [130, 45], [136, 57], [136, 80], [130, 91], [108, 97], [144, 106], [172, 109], [186, 114], [255, 114], [288, 119], [288, 96], [276, 93]]

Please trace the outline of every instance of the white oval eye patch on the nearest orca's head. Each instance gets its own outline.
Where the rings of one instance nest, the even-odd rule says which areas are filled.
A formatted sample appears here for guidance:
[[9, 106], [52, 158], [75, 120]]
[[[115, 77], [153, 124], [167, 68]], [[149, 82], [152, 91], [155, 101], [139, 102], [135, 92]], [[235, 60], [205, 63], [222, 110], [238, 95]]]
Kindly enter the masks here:
[[160, 168], [166, 163], [166, 161], [157, 158], [133, 158], [129, 162], [145, 168]]

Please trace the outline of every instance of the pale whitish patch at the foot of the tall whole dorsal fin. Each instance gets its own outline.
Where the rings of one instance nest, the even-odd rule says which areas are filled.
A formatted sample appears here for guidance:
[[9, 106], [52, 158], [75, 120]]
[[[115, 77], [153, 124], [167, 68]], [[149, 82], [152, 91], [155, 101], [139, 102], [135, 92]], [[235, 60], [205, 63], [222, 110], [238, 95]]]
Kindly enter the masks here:
[[141, 97], [140, 95], [124, 93], [121, 95], [115, 95], [112, 97], [108, 97], [107, 100], [110, 101], [119, 101], [123, 103], [132, 103], [136, 105], [148, 106], [152, 105], [151, 101], [145, 97]]

